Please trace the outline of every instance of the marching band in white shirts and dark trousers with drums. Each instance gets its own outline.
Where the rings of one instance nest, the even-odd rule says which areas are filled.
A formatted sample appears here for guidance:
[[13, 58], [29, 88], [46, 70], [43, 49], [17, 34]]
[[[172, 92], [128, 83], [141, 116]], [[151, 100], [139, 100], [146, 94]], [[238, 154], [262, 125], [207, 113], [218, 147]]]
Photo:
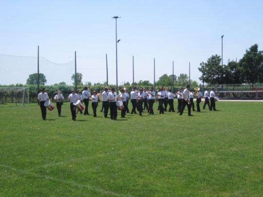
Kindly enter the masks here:
[[[185, 107], [188, 107], [188, 116], [193, 116], [191, 114], [194, 110], [194, 102], [193, 99], [196, 97], [196, 107], [197, 112], [201, 112], [200, 110], [200, 103], [203, 98], [203, 94], [199, 88], [195, 90], [190, 90], [190, 86], [187, 85], [186, 89], [183, 90], [179, 87], [178, 92], [173, 93], [171, 89], [166, 91], [165, 88], [160, 88], [158, 93], [156, 94], [153, 90], [153, 87], [150, 87], [150, 90], [140, 89], [137, 90], [136, 87], [133, 87], [131, 93], [129, 94], [125, 88], [120, 90], [120, 93], [117, 94], [114, 88], [111, 91], [108, 90], [108, 87], [104, 88], [102, 94], [93, 91], [93, 95], [91, 95], [88, 87], [84, 87], [83, 91], [78, 91], [78, 94], [75, 93], [75, 90], [71, 90], [71, 94], [68, 96], [68, 101], [70, 101], [70, 109], [72, 114], [72, 120], [76, 120], [76, 109], [82, 113], [84, 110], [84, 115], [89, 115], [88, 113], [88, 106], [89, 101], [92, 102], [92, 108], [94, 117], [97, 116], [96, 109], [98, 106], [98, 101], [102, 101], [102, 110], [104, 117], [108, 117], [108, 110], [110, 108], [110, 115], [112, 120], [117, 119], [117, 109], [121, 110], [121, 118], [125, 118], [126, 113], [129, 113], [128, 102], [129, 98], [131, 99], [132, 109], [131, 114], [137, 114], [136, 109], [139, 112], [139, 115], [142, 116], [143, 110], [147, 110], [149, 115], [154, 115], [153, 112], [153, 104], [154, 102], [158, 102], [158, 110], [159, 114], [164, 114], [164, 111], [167, 110], [169, 105], [169, 112], [175, 112], [174, 110], [174, 98], [177, 98], [178, 106], [177, 112], [182, 115], [184, 112]], [[212, 109], [215, 111], [215, 101], [218, 100], [216, 97], [215, 89], [213, 88], [210, 92], [206, 89], [204, 93], [204, 106], [205, 109], [206, 105], [208, 105], [209, 110]], [[49, 110], [53, 110], [55, 107], [49, 100], [48, 94], [46, 93], [45, 88], [42, 88], [42, 92], [38, 94], [39, 106], [41, 109], [42, 119], [46, 120], [46, 107]], [[56, 101], [56, 107], [58, 116], [61, 116], [61, 106], [63, 105], [64, 97], [60, 90], [57, 91], [54, 100]], [[85, 107], [82, 105], [82, 100], [85, 104]], [[209, 102], [210, 100], [210, 102]], [[144, 104], [144, 108], [143, 108]]]

